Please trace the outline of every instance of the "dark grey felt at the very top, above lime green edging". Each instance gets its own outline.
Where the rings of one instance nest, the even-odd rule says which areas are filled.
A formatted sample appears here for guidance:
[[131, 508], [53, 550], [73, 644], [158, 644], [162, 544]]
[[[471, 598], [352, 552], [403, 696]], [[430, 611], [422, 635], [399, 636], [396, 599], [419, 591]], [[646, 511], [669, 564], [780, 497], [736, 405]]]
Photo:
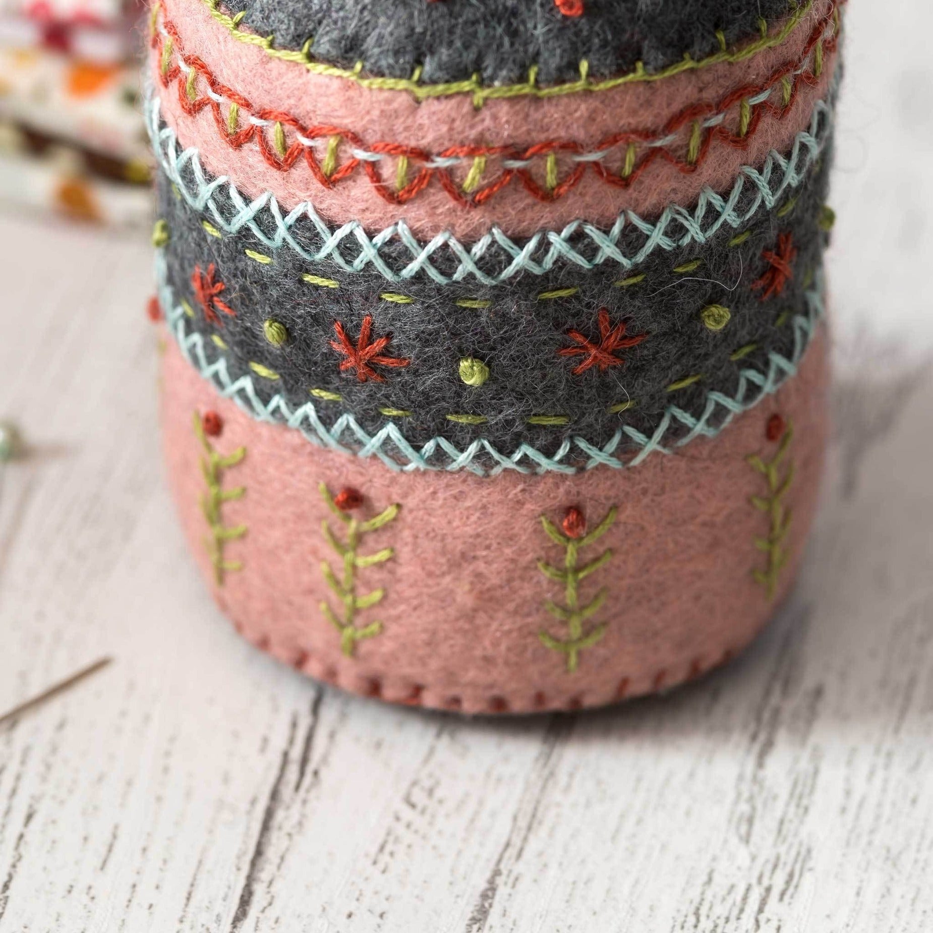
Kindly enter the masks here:
[[384, 77], [484, 85], [525, 81], [537, 67], [542, 85], [627, 72], [643, 62], [658, 71], [686, 54], [703, 58], [759, 35], [795, 5], [789, 0], [584, 0], [566, 17], [554, 0], [229, 0], [244, 24], [272, 35], [282, 49], [313, 38], [317, 61], [345, 68], [361, 62]]

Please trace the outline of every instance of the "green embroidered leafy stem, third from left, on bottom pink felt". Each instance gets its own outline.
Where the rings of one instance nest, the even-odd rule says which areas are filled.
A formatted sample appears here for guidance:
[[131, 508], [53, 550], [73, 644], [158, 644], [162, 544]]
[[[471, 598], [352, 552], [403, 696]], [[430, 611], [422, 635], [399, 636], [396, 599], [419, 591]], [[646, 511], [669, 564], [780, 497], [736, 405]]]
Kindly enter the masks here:
[[606, 623], [600, 623], [589, 632], [583, 631], [583, 622], [595, 615], [606, 602], [606, 587], [600, 589], [586, 606], [580, 606], [579, 581], [589, 577], [612, 560], [612, 549], [604, 550], [589, 564], [578, 567], [579, 551], [604, 536], [616, 521], [618, 508], [613, 506], [589, 535], [579, 539], [562, 535], [553, 522], [546, 515], [541, 516], [541, 524], [550, 539], [564, 548], [564, 569], [551, 566], [545, 561], [538, 561], [537, 568], [545, 577], [556, 583], [564, 584], [564, 601], [566, 606], [558, 606], [552, 600], [545, 600], [544, 606], [552, 616], [564, 622], [567, 626], [567, 639], [561, 641], [543, 629], [537, 634], [541, 644], [552, 651], [559, 651], [566, 657], [567, 673], [573, 674], [577, 670], [580, 652], [584, 648], [592, 648], [606, 634]]

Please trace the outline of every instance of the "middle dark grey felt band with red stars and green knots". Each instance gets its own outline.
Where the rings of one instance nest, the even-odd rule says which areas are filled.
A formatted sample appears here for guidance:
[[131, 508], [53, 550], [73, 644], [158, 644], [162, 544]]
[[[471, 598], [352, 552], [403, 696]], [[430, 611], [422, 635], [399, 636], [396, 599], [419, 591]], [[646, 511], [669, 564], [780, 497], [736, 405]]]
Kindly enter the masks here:
[[[313, 267], [328, 283], [315, 284], [292, 250], [217, 237], [160, 176], [168, 284], [210, 357], [225, 359], [233, 380], [252, 376], [264, 403], [314, 398], [326, 423], [349, 411], [375, 434], [389, 419], [415, 445], [482, 437], [551, 454], [579, 436], [602, 446], [621, 424], [650, 435], [672, 400], [699, 414], [711, 390], [735, 395], [743, 369], [764, 372], [773, 353], [791, 354], [791, 319], [806, 311], [827, 237], [828, 164], [739, 242], [721, 230], [703, 247], [654, 254], [635, 275], [565, 265], [507, 285], [418, 278], [391, 290], [377, 272], [336, 268]], [[335, 348], [338, 327], [353, 347], [367, 320], [396, 365], [350, 367], [349, 351]], [[606, 332], [620, 325], [613, 349]], [[471, 361], [484, 370], [479, 383], [465, 378]]]

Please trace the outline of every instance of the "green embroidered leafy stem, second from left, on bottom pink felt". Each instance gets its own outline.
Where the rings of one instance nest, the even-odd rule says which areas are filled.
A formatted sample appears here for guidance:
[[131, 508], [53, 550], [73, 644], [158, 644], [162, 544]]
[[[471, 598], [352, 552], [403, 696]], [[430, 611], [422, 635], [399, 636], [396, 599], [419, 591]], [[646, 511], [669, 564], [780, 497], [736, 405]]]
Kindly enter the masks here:
[[385, 590], [380, 587], [378, 590], [373, 590], [365, 596], [357, 596], [356, 571], [362, 570], [365, 567], [371, 567], [374, 564], [384, 564], [386, 561], [390, 560], [396, 552], [394, 548], [383, 548], [383, 550], [379, 550], [375, 554], [362, 556], [357, 553], [357, 548], [359, 547], [360, 539], [364, 535], [376, 531], [382, 528], [383, 525], [392, 522], [396, 518], [401, 506], [395, 503], [383, 509], [382, 512], [375, 518], [369, 519], [368, 522], [360, 522], [352, 515], [348, 515], [346, 512], [341, 511], [340, 508], [337, 508], [333, 496], [327, 489], [326, 483], [322, 482], [318, 489], [320, 490], [322, 498], [327, 503], [327, 508], [329, 508], [347, 528], [347, 539], [343, 542], [339, 541], [334, 536], [334, 533], [330, 530], [330, 526], [327, 524], [327, 520], [321, 522], [327, 544], [337, 551], [343, 563], [343, 577], [341, 579], [336, 577], [333, 570], [330, 569], [330, 564], [327, 564], [327, 561], [321, 564], [321, 571], [324, 574], [325, 580], [327, 580], [327, 586], [333, 590], [334, 594], [343, 604], [343, 618], [341, 619], [326, 602], [321, 603], [321, 612], [324, 613], [325, 619], [340, 633], [341, 651], [343, 654], [348, 658], [352, 658], [357, 642], [362, 641], [364, 638], [373, 638], [383, 631], [383, 623], [378, 620], [370, 622], [369, 625], [357, 628], [356, 612], [360, 609], [368, 609], [370, 606], [375, 606], [377, 603], [382, 602], [383, 596], [385, 595]]

